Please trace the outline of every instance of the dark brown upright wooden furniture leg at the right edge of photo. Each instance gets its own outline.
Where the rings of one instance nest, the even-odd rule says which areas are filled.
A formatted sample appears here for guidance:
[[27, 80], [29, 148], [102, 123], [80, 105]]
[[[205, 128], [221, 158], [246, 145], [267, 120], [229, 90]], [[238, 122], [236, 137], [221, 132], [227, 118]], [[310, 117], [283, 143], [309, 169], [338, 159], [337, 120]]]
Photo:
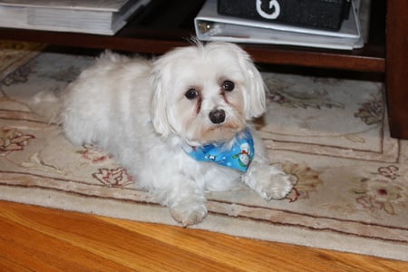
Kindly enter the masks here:
[[391, 136], [408, 139], [408, 0], [388, 0], [386, 93]]

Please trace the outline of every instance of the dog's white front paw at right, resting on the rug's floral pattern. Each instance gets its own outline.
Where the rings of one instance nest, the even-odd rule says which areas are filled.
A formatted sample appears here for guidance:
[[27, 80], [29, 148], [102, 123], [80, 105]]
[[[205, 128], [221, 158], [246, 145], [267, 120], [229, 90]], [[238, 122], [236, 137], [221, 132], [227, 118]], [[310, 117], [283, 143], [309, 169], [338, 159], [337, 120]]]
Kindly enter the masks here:
[[275, 167], [260, 167], [248, 185], [263, 199], [283, 199], [292, 190], [296, 178]]

